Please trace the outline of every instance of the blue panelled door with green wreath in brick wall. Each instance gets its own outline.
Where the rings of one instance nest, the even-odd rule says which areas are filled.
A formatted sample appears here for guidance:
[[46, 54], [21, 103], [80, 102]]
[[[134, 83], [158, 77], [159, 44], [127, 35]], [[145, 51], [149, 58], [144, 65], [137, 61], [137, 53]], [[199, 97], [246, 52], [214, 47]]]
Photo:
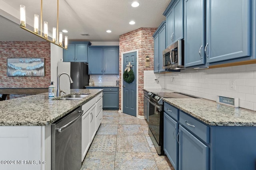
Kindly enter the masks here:
[[126, 65], [132, 65], [132, 70], [134, 72], [134, 81], [132, 83], [127, 83], [123, 80], [123, 113], [136, 116], [136, 79], [137, 79], [137, 52], [127, 53], [123, 55], [123, 72]]

